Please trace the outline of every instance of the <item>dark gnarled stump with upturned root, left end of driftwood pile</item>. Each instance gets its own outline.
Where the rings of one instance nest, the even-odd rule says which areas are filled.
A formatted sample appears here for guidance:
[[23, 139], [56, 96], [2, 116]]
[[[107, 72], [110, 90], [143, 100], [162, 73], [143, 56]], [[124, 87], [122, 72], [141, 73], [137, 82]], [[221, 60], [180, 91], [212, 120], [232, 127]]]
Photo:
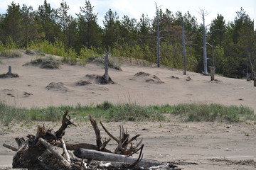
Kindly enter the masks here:
[[[67, 118], [68, 116], [68, 118]], [[13, 168], [28, 168], [28, 169], [41, 169], [49, 167], [41, 159], [42, 155], [50, 150], [50, 154], [56, 159], [46, 159], [44, 161], [50, 162], [50, 164], [56, 164], [61, 162], [66, 169], [71, 167], [68, 160], [64, 159], [60, 154], [55, 152], [50, 145], [51, 142], [56, 140], [61, 140], [61, 137], [65, 134], [65, 129], [68, 128], [68, 125], [75, 125], [70, 122], [70, 116], [68, 111], [63, 115], [63, 121], [60, 129], [54, 133], [52, 130], [46, 130], [45, 126], [38, 125], [38, 130], [36, 136], [28, 135], [28, 140], [23, 138], [16, 138], [18, 144], [18, 150], [14, 155], [13, 159]], [[49, 157], [49, 154], [45, 154], [46, 157]], [[52, 167], [55, 168], [55, 167]]]

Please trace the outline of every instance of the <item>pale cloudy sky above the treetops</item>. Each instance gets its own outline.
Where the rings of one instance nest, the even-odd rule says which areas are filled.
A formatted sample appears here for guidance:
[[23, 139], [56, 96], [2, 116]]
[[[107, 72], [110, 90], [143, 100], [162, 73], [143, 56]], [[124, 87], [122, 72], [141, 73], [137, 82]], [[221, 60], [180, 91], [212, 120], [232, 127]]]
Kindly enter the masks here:
[[[26, 6], [33, 6], [33, 10], [37, 10], [38, 6], [43, 4], [44, 0], [1, 0], [0, 1], [0, 13], [6, 13], [6, 9], [11, 2], [26, 4]], [[85, 6], [85, 0], [64, 0], [70, 6], [68, 13], [75, 18], [75, 13], [80, 12], [80, 6]], [[60, 7], [62, 0], [47, 0], [52, 8]], [[199, 14], [200, 9], [204, 9], [208, 12], [206, 16], [206, 25], [210, 24], [214, 18], [218, 16], [218, 13], [224, 16], [226, 23], [228, 21], [234, 21], [236, 11], [240, 11], [240, 8], [244, 8], [246, 13], [252, 20], [255, 20], [256, 29], [256, 0], [90, 0], [94, 13], [98, 13], [98, 23], [102, 26], [105, 13], [111, 10], [116, 11], [119, 19], [122, 16], [127, 15], [129, 18], [137, 19], [144, 15], [148, 15], [150, 19], [156, 16], [156, 5], [160, 6], [162, 11], [166, 11], [166, 8], [173, 13], [181, 11], [182, 13], [191, 13], [192, 16], [197, 18], [198, 23], [202, 23], [201, 16]]]

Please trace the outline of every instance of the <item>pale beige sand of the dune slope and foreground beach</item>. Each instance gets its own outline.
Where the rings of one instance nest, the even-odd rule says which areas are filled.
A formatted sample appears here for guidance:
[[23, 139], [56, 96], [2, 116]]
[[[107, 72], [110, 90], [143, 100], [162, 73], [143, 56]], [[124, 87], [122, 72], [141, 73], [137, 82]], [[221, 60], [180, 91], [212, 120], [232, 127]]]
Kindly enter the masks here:
[[[86, 75], [104, 74], [102, 65], [64, 64], [60, 69], [23, 66], [31, 58], [35, 56], [23, 54], [16, 59], [0, 57], [0, 74], [6, 73], [11, 65], [12, 72], [20, 76], [0, 79], [1, 101], [26, 108], [85, 105], [106, 100], [142, 105], [221, 103], [227, 106], [242, 104], [256, 111], [256, 89], [252, 81], [218, 76], [215, 77], [218, 81], [210, 81], [210, 77], [193, 72], [184, 76], [181, 70], [124, 64], [122, 71], [109, 70], [115, 84], [100, 85]], [[149, 75], [134, 76], [138, 72]], [[92, 84], [77, 85], [88, 79]], [[60, 86], [46, 88], [50, 83], [60, 83]], [[235, 123], [226, 128], [227, 123], [180, 123], [176, 118], [170, 119], [169, 123], [118, 122], [105, 125], [116, 136], [119, 135], [118, 125], [124, 125], [131, 135], [142, 134], [144, 158], [147, 159], [175, 162], [183, 169], [255, 169], [256, 165], [248, 164], [248, 160], [256, 161], [256, 125]], [[38, 124], [42, 123], [14, 123], [9, 128], [0, 126], [0, 169], [11, 166], [15, 154], [2, 147], [3, 143], [16, 146], [14, 138], [36, 134]], [[60, 123], [47, 124], [55, 129], [60, 126]], [[66, 131], [65, 140], [95, 144], [95, 135], [90, 123], [79, 123], [77, 128]]]

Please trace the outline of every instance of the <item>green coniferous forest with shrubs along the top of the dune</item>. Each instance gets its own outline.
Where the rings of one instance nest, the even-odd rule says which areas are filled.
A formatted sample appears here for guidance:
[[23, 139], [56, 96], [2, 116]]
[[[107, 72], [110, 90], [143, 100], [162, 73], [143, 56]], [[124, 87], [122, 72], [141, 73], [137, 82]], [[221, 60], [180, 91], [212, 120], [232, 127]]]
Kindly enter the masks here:
[[[159, 9], [162, 66], [183, 69], [183, 23], [186, 68], [192, 72], [203, 72], [203, 25], [198, 24], [201, 19], [191, 16], [189, 11], [174, 13], [168, 8]], [[240, 8], [234, 21], [227, 23], [218, 14], [206, 28], [208, 65], [214, 66], [217, 74], [243, 78], [255, 69], [256, 31], [253, 26], [250, 16]], [[149, 18], [142, 13], [136, 21], [129, 16], [120, 17], [109, 9], [103, 26], [100, 26], [93, 4], [87, 0], [76, 16], [69, 14], [65, 1], [58, 8], [51, 8], [46, 0], [37, 9], [12, 2], [6, 13], [0, 14], [0, 51], [37, 49], [52, 55], [81, 59], [110, 51], [114, 57], [132, 57], [156, 63], [156, 42], [156, 16]]]

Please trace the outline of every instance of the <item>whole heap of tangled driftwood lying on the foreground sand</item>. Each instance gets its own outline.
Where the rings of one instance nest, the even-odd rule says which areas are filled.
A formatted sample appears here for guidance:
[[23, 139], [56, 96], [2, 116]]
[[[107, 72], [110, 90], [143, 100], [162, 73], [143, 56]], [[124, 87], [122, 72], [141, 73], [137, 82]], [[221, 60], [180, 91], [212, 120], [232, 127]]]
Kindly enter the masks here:
[[[28, 140], [24, 140], [23, 137], [16, 137], [18, 149], [11, 145], [4, 144], [3, 146], [16, 151], [13, 168], [21, 169], [136, 169], [139, 167], [149, 168], [160, 164], [156, 160], [142, 159], [144, 147], [142, 140], [137, 145], [132, 143], [140, 135], [135, 135], [129, 139], [127, 130], [124, 131], [124, 127], [120, 125], [120, 136], [117, 138], [100, 122], [107, 135], [110, 136], [108, 140], [102, 140], [97, 122], [91, 116], [90, 122], [95, 131], [96, 145], [64, 142], [62, 137], [65, 135], [65, 129], [68, 128], [68, 125], [75, 125], [70, 121], [68, 111], [65, 111], [62, 125], [56, 132], [52, 132], [53, 129], [46, 130], [44, 125], [38, 125], [36, 135], [28, 135]], [[111, 139], [117, 142], [115, 153], [106, 148]], [[55, 146], [63, 148], [62, 155], [54, 148]], [[74, 152], [71, 153], [68, 150], [74, 150]], [[139, 151], [138, 158], [130, 157]], [[84, 159], [86, 159], [85, 162], [90, 164], [86, 164]], [[107, 166], [110, 163], [102, 164], [97, 160], [112, 163], [111, 166]]]

